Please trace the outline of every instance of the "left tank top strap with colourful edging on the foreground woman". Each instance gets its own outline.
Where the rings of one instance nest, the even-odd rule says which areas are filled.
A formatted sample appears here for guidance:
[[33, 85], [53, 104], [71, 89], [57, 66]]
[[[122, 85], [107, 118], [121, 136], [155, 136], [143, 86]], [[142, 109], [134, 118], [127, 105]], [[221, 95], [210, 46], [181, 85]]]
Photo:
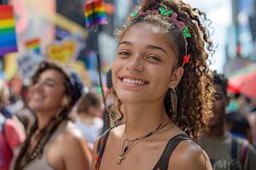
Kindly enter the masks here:
[[102, 156], [103, 156], [103, 153], [107, 144], [107, 140], [108, 140], [108, 135], [111, 129], [112, 128], [108, 128], [108, 130], [105, 133], [103, 133], [98, 140], [97, 150], [96, 150], [96, 164], [94, 167], [95, 170], [100, 169]]

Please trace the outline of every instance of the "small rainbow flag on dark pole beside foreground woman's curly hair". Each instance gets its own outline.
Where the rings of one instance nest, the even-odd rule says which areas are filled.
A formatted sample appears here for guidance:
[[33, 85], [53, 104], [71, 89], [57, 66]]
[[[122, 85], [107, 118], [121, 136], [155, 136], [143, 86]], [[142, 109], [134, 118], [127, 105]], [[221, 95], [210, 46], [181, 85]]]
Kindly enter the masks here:
[[86, 27], [107, 24], [106, 10], [102, 0], [89, 0], [84, 3]]

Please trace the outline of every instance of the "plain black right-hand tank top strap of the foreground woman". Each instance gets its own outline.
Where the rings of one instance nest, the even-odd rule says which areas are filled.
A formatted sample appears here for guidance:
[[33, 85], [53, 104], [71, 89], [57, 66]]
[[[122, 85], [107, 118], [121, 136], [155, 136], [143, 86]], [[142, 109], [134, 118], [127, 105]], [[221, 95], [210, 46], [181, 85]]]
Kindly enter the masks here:
[[177, 147], [177, 144], [179, 144], [183, 140], [193, 140], [193, 139], [189, 137], [189, 135], [187, 134], [177, 134], [176, 136], [172, 137], [172, 139], [169, 140], [169, 142], [166, 144], [165, 150], [160, 156], [159, 161], [154, 166], [154, 170], [165, 170], [168, 168], [168, 163], [173, 150], [175, 150], [175, 148]]

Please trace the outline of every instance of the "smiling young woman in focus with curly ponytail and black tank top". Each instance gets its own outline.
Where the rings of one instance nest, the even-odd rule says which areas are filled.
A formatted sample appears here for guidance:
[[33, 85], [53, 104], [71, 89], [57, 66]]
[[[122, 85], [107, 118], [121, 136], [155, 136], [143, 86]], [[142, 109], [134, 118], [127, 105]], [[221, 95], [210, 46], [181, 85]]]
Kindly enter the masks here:
[[125, 124], [96, 142], [93, 169], [211, 169], [195, 143], [212, 116], [204, 19], [180, 0], [144, 0], [117, 31], [110, 115]]

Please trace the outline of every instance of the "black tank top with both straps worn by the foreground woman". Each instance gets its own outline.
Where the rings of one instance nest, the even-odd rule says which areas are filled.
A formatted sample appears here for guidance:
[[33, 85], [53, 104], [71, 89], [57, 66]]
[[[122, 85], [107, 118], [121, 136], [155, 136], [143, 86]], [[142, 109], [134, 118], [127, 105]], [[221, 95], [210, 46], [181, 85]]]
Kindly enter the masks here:
[[[97, 152], [96, 152], [96, 165], [95, 170], [100, 169], [102, 156], [107, 144], [108, 134], [111, 129], [108, 129], [105, 133], [102, 134], [102, 137], [98, 141], [97, 145]], [[160, 156], [159, 161], [155, 164], [153, 170], [166, 170], [168, 168], [168, 163], [170, 160], [170, 156], [172, 155], [173, 150], [177, 147], [177, 144], [179, 144], [183, 140], [192, 140], [191, 137], [187, 134], [177, 134], [176, 136], [172, 137], [172, 139], [169, 140], [168, 144], [166, 144], [166, 148], [163, 151], [162, 155]]]

